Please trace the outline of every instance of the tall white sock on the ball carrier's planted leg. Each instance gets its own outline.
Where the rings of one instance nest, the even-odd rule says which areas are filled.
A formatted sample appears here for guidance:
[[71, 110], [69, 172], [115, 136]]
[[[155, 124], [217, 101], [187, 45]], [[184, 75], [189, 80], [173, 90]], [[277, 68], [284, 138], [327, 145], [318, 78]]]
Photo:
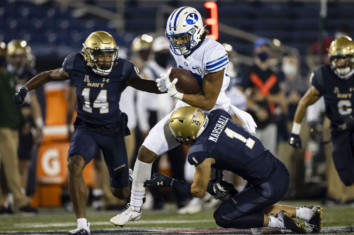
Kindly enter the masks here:
[[152, 163], [145, 163], [136, 159], [130, 196], [130, 205], [135, 206], [136, 211], [140, 211], [141, 205], [143, 205], [143, 197], [145, 193], [143, 185], [145, 180], [150, 179], [152, 165]]

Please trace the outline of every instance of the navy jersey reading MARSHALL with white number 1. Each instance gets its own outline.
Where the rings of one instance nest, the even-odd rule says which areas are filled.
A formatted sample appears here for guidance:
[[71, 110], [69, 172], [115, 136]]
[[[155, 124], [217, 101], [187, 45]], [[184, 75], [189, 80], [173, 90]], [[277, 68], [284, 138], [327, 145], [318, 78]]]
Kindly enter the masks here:
[[259, 139], [234, 122], [223, 109], [212, 110], [208, 118], [205, 130], [189, 147], [190, 164], [211, 157], [215, 159], [213, 168], [232, 171], [255, 185], [272, 177], [277, 159]]

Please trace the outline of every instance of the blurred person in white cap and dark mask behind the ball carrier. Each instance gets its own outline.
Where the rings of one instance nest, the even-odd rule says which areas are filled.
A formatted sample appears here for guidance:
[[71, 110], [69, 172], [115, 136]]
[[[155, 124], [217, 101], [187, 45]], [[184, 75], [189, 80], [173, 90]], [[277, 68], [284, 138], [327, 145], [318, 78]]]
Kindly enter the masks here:
[[[166, 69], [171, 67], [169, 63], [169, 40], [165, 36], [158, 36], [152, 42], [152, 57], [153, 60], [147, 62], [142, 72], [146, 78], [156, 80], [164, 73]], [[149, 101], [149, 102], [147, 102]], [[150, 129], [157, 123], [158, 120], [169, 114], [175, 106], [173, 98], [168, 94], [156, 95], [143, 91], [137, 91], [137, 117], [139, 129], [142, 133], [142, 138], [145, 139]], [[167, 151], [167, 156], [171, 163], [172, 175], [178, 179], [184, 180], [184, 158], [185, 156], [182, 145], [178, 145], [170, 151]], [[152, 165], [152, 174], [159, 172], [160, 158], [157, 158]], [[153, 196], [153, 209], [162, 209], [161, 190], [157, 188], [150, 189]], [[177, 206], [181, 208], [185, 204], [186, 196], [178, 191], [176, 193]], [[147, 196], [149, 198], [149, 195]], [[149, 200], [149, 199], [148, 199]], [[151, 206], [151, 204], [150, 204]], [[149, 208], [149, 203], [146, 203], [145, 209]]]

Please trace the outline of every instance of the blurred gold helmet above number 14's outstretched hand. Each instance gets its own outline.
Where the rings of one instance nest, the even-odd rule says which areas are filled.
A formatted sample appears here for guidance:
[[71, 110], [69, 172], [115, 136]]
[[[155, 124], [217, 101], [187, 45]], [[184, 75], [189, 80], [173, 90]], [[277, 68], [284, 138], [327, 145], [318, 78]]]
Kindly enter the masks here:
[[[16, 56], [22, 56], [22, 58], [16, 58]], [[13, 39], [7, 44], [7, 62], [17, 68], [26, 64], [34, 65], [34, 56], [26, 41]]]

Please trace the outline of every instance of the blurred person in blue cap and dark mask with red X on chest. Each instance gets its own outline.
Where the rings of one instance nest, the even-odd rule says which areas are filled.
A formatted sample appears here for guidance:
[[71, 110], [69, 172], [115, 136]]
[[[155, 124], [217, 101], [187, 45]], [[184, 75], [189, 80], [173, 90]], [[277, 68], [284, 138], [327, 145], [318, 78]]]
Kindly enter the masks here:
[[255, 65], [249, 67], [239, 83], [239, 89], [247, 96], [247, 110], [257, 123], [255, 136], [261, 139], [265, 147], [276, 151], [277, 126], [274, 120], [275, 106], [281, 113], [287, 113], [287, 103], [279, 82], [284, 80], [282, 72], [270, 68], [270, 41], [258, 39], [253, 45]]

